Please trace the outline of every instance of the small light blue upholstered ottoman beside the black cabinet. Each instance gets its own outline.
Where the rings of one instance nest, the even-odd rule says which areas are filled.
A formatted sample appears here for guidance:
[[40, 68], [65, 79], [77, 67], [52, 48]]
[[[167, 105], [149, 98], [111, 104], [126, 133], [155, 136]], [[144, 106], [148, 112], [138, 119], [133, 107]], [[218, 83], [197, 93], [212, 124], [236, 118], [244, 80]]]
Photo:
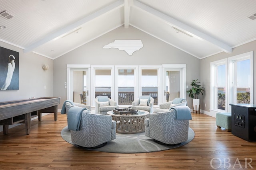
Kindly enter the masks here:
[[218, 128], [225, 128], [231, 132], [231, 113], [216, 113], [216, 125]]

